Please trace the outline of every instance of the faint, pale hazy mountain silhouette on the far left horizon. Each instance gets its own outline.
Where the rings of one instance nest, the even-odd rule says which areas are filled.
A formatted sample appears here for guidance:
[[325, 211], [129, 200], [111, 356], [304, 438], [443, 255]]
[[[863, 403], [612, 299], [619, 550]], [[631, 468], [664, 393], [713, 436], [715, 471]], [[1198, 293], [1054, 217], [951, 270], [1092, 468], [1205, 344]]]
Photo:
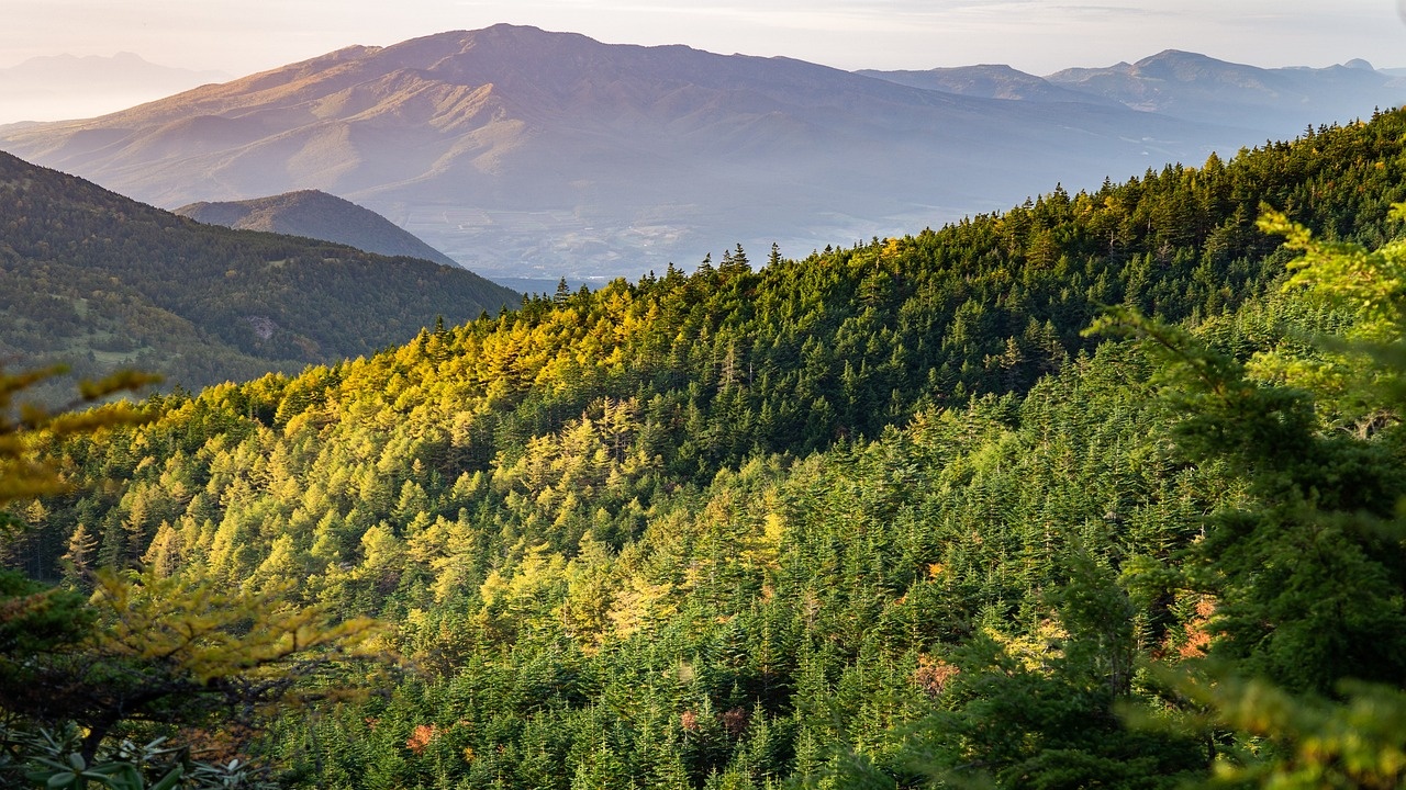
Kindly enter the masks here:
[[114, 112], [228, 79], [224, 72], [157, 66], [131, 52], [30, 58], [0, 69], [0, 124], [86, 118], [94, 107]]

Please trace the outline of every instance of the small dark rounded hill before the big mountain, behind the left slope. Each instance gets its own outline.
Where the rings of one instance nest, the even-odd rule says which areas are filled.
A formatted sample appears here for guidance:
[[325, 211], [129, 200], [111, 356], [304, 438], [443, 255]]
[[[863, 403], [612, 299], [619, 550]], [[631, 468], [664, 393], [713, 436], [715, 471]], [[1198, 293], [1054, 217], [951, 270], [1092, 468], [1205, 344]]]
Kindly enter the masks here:
[[245, 201], [193, 202], [177, 208], [176, 214], [239, 231], [307, 236], [368, 253], [419, 257], [444, 266], [458, 266], [454, 259], [396, 228], [380, 214], [318, 190]]

